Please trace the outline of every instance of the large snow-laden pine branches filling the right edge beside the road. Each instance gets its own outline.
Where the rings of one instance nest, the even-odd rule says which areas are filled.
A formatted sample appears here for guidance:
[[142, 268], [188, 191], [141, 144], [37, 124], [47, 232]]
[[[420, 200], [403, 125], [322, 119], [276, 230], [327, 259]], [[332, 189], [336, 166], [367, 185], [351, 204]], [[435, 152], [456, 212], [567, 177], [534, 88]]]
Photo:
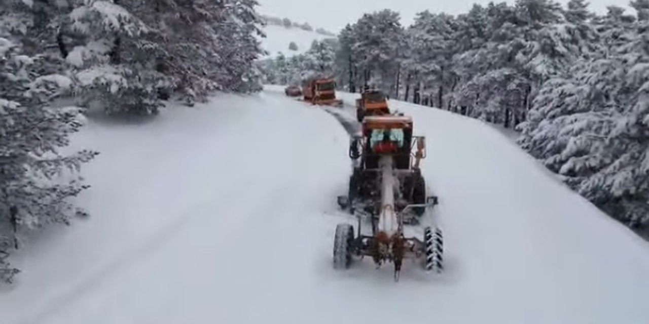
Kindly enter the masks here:
[[636, 229], [649, 219], [649, 51], [643, 20], [609, 8], [604, 46], [541, 89], [520, 143], [580, 194]]

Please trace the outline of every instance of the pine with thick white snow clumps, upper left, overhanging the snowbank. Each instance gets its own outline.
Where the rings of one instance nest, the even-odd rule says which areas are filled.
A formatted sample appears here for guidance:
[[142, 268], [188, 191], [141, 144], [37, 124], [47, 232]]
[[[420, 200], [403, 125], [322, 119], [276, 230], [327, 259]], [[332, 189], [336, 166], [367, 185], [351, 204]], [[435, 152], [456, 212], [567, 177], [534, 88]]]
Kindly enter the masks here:
[[110, 0], [75, 0], [66, 26], [83, 45], [69, 52], [75, 65], [78, 103], [101, 106], [106, 113], [156, 113], [161, 106], [151, 54], [162, 51], [145, 34], [154, 32], [141, 19]]

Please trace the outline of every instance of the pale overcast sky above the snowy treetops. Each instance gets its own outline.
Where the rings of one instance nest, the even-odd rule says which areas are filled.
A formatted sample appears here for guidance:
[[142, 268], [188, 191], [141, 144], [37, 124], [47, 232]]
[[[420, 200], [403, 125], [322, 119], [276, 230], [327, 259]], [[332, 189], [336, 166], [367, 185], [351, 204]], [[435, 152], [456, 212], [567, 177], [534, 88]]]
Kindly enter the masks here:
[[[486, 5], [491, 0], [257, 0], [259, 12], [276, 17], [288, 17], [300, 23], [308, 22], [313, 27], [323, 27], [337, 32], [347, 23], [353, 23], [363, 13], [389, 8], [400, 12], [404, 25], [410, 25], [417, 12], [447, 12], [461, 14], [467, 12], [473, 3]], [[496, 0], [495, 3], [502, 2]], [[513, 0], [506, 1], [513, 3]], [[558, 0], [565, 5], [568, 0]], [[606, 6], [626, 7], [628, 0], [590, 0], [591, 10], [605, 13]], [[628, 12], [635, 11], [628, 9]]]

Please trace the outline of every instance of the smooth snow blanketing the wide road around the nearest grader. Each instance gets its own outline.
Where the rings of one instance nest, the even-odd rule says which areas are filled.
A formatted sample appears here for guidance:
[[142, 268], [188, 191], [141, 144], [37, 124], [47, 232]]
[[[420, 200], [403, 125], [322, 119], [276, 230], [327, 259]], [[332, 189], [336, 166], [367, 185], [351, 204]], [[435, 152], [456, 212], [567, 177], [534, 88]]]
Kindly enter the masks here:
[[77, 145], [102, 152], [82, 196], [93, 216], [25, 251], [0, 323], [646, 323], [646, 242], [493, 128], [390, 104], [427, 137], [442, 275], [332, 269], [335, 226], [352, 222], [336, 207], [347, 133], [269, 87], [91, 122]]

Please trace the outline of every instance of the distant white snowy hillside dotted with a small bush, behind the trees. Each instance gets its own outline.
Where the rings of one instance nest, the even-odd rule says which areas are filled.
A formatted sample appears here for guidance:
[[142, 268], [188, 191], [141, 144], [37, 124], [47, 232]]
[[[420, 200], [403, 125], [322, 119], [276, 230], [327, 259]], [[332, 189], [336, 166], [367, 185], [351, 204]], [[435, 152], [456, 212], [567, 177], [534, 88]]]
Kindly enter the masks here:
[[[297, 27], [288, 29], [282, 26], [268, 25], [264, 27], [263, 31], [266, 33], [266, 37], [260, 38], [262, 41], [262, 47], [268, 51], [269, 56], [272, 57], [277, 56], [278, 52], [282, 52], [286, 56], [301, 54], [310, 49], [311, 43], [314, 40], [332, 38], [332, 36], [317, 34], [316, 32], [302, 30]], [[295, 44], [298, 47], [297, 51], [291, 51], [288, 49], [288, 45], [291, 41], [295, 41]]]

